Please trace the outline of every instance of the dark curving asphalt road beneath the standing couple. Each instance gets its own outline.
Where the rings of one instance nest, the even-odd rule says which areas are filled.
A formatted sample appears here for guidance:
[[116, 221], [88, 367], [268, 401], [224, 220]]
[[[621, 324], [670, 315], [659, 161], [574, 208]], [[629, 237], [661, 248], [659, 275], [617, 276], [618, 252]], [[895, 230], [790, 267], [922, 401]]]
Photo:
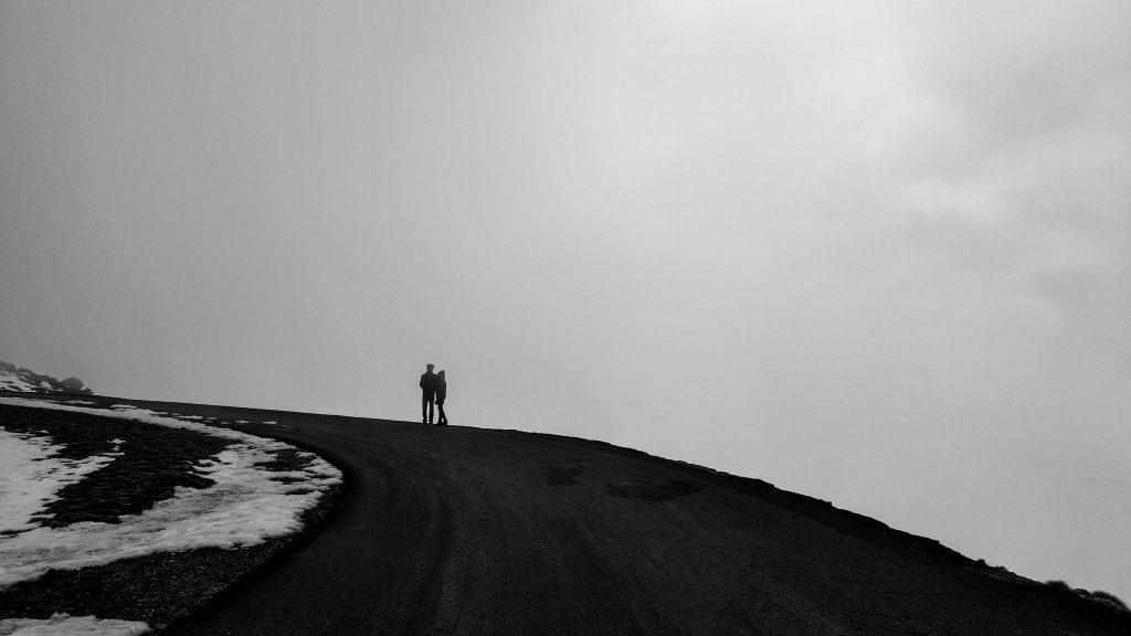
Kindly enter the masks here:
[[128, 401], [340, 466], [347, 500], [185, 635], [1126, 634], [1119, 614], [757, 480], [519, 431]]

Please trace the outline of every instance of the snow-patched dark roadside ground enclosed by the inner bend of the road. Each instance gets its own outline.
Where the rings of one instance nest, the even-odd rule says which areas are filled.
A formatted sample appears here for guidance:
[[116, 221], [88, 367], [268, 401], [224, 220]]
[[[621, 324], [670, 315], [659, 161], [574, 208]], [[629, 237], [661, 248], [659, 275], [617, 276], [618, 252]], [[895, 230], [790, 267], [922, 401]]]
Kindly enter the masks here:
[[340, 499], [313, 454], [208, 424], [0, 396], [0, 635], [167, 627]]

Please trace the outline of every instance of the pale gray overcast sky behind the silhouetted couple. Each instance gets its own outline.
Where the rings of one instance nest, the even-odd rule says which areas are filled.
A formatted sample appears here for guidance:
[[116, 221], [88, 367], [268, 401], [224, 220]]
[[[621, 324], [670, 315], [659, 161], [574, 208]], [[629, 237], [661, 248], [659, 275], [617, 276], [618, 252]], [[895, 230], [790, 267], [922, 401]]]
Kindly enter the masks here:
[[[780, 5], [780, 6], [779, 6]], [[0, 0], [0, 358], [599, 438], [1131, 601], [1131, 5]]]

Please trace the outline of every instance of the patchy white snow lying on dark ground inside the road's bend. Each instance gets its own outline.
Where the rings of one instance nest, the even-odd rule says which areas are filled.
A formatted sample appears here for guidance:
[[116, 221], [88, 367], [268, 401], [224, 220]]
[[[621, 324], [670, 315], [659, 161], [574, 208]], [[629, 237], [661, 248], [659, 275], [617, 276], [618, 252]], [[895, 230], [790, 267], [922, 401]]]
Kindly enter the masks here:
[[[0, 421], [0, 532], [8, 533], [0, 534], [0, 588], [37, 578], [50, 569], [77, 569], [162, 551], [248, 547], [270, 536], [291, 534], [301, 528], [302, 513], [313, 507], [326, 489], [342, 481], [340, 471], [310, 453], [299, 453], [309, 459], [299, 471], [278, 472], [257, 466], [274, 459], [277, 452], [294, 450], [294, 447], [210, 427], [200, 423], [197, 416], [179, 418], [121, 404], [106, 410], [18, 397], [0, 397], [0, 404], [129, 419], [190, 429], [234, 442], [213, 459], [199, 462], [192, 469], [215, 481], [214, 485], [205, 489], [178, 487], [172, 498], [156, 502], [141, 514], [123, 516], [119, 524], [86, 522], [53, 528], [40, 523], [36, 516], [43, 506], [64, 485], [109, 465], [120, 453], [80, 461], [60, 459], [52, 457], [59, 447], [46, 432], [43, 437], [15, 433], [3, 430]], [[288, 478], [290, 483], [282, 483], [279, 478]], [[87, 619], [93, 621], [93, 628], [98, 625], [107, 629], [120, 627], [93, 617], [68, 620]], [[61, 631], [50, 630], [57, 629], [55, 624], [28, 622], [18, 628], [11, 627], [14, 625], [10, 620], [0, 621], [0, 636], [139, 633], [84, 631], [86, 627], [79, 624], [59, 627]], [[136, 629], [137, 625], [144, 624], [123, 629]]]

